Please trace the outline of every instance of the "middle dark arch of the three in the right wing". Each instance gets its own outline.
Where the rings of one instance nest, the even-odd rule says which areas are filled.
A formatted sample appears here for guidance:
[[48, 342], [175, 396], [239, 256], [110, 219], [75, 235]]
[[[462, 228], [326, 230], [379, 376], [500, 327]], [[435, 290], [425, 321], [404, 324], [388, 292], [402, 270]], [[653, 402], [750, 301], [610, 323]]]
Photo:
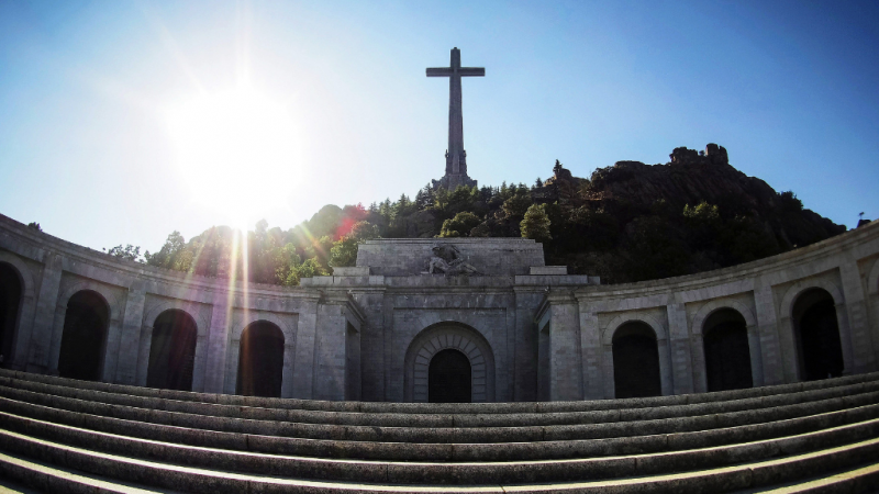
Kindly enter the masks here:
[[721, 308], [709, 316], [702, 328], [708, 391], [753, 388], [748, 328], [742, 314]]

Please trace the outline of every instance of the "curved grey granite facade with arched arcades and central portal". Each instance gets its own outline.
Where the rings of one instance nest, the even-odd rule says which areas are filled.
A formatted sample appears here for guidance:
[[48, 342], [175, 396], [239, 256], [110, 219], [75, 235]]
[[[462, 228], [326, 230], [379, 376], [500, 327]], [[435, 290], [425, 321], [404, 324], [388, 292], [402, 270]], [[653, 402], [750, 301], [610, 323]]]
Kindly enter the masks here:
[[[282, 288], [119, 260], [0, 216], [0, 296], [2, 364], [35, 373], [254, 394], [245, 381], [269, 372], [277, 390], [255, 394], [333, 401], [425, 402], [467, 373], [452, 384], [472, 402], [676, 395], [877, 370], [879, 225], [621, 285], [545, 266], [527, 239], [378, 239], [356, 267]], [[169, 340], [177, 353], [156, 347]], [[467, 373], [443, 374], [452, 353]]]

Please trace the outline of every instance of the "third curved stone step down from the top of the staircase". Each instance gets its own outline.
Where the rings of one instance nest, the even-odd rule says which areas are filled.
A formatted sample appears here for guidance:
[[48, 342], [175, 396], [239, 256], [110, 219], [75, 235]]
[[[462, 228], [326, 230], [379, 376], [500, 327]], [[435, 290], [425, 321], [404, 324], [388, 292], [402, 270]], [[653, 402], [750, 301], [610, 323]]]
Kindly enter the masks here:
[[[793, 405], [759, 408], [756, 411], [623, 423], [611, 422], [546, 427], [412, 428], [297, 424], [281, 420], [214, 417], [160, 409], [108, 405], [100, 402], [67, 398], [5, 386], [0, 386], [0, 396], [8, 400], [0, 401], [0, 407], [5, 407], [2, 409], [8, 409], [12, 413], [27, 415], [30, 414], [27, 408], [23, 408], [24, 405], [15, 405], [16, 402], [43, 405], [54, 408], [42, 412], [43, 417], [46, 419], [84, 427], [91, 427], [92, 424], [97, 427], [101, 423], [98, 417], [110, 417], [131, 420], [134, 423], [132, 427], [136, 428], [148, 429], [147, 424], [157, 424], [232, 433], [233, 435], [231, 436], [218, 436], [218, 440], [229, 445], [240, 444], [242, 441], [242, 439], [234, 436], [234, 434], [323, 440], [415, 444], [526, 442], [694, 433], [805, 417], [877, 404], [879, 403], [879, 391], [858, 392], [874, 388], [875, 385], [875, 383], [863, 383], [842, 386], [841, 390], [837, 391], [842, 391], [843, 393], [834, 394], [843, 394], [843, 396]], [[12, 406], [18, 406], [19, 408], [11, 408]], [[78, 414], [85, 415], [80, 416]], [[86, 419], [89, 420], [89, 425], [86, 425]]]

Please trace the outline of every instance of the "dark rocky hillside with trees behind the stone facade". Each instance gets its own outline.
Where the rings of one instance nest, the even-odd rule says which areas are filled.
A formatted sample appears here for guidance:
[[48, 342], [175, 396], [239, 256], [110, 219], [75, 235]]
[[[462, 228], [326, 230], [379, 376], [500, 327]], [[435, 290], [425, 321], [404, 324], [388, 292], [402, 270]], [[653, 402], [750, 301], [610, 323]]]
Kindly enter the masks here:
[[[678, 148], [670, 157], [666, 165], [619, 161], [589, 179], [556, 161], [553, 176], [532, 186], [425, 187], [413, 199], [403, 194], [369, 207], [331, 204], [287, 231], [260, 221], [246, 235], [214, 226], [186, 242], [174, 232], [143, 260], [296, 285], [353, 266], [357, 244], [369, 238], [523, 236], [544, 243], [548, 265], [620, 283], [733, 266], [845, 232], [803, 209], [794, 193], [777, 193], [730, 166], [723, 147]], [[140, 258], [132, 246], [110, 254]]]

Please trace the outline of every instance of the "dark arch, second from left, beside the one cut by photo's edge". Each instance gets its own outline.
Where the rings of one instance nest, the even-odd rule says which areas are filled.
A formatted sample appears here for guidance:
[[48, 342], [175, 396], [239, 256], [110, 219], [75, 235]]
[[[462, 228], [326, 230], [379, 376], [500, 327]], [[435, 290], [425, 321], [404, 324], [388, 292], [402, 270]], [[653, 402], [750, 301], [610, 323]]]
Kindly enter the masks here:
[[64, 314], [58, 374], [62, 378], [99, 381], [110, 322], [110, 307], [91, 290], [77, 292]]

